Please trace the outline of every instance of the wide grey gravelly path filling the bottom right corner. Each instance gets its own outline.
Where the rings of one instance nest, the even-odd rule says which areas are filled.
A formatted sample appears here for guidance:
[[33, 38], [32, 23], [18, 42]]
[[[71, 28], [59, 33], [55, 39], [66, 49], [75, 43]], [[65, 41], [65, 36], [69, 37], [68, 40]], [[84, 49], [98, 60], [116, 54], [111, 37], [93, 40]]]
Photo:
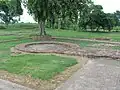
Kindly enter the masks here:
[[90, 60], [56, 90], [120, 90], [120, 61]]

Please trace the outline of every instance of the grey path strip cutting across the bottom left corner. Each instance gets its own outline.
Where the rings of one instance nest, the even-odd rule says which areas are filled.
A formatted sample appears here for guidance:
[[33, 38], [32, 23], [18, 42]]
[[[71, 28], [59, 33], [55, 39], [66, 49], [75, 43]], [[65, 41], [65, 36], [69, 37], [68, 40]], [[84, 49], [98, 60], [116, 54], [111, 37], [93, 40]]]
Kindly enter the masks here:
[[32, 90], [32, 89], [0, 79], [0, 90]]

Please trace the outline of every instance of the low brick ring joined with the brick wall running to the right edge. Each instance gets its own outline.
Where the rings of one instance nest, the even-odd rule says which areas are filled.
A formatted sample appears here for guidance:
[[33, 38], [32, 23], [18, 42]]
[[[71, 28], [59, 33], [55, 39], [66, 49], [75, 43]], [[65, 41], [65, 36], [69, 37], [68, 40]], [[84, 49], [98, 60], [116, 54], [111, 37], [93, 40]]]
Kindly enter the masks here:
[[[66, 47], [69, 47], [66, 50], [61, 51], [55, 51], [55, 50], [47, 50], [47, 51], [35, 51], [35, 50], [27, 50], [26, 47], [29, 45], [34, 44], [62, 44]], [[65, 55], [71, 55], [71, 56], [82, 56], [82, 57], [88, 57], [88, 58], [112, 58], [112, 59], [120, 59], [120, 51], [115, 50], [100, 50], [100, 49], [82, 49], [77, 44], [72, 43], [66, 43], [66, 42], [55, 42], [55, 41], [44, 41], [44, 42], [32, 42], [32, 43], [24, 43], [19, 44], [15, 46], [14, 48], [11, 48], [11, 52], [13, 54], [22, 54], [22, 53], [51, 53], [51, 54], [65, 54]]]

